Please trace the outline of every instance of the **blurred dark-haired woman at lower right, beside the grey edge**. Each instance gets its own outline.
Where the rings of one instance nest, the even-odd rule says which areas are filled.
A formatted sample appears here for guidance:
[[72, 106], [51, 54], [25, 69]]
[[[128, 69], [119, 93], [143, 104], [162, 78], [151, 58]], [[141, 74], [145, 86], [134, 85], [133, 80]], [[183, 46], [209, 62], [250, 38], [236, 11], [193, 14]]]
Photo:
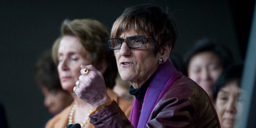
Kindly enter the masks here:
[[213, 86], [216, 111], [222, 128], [234, 128], [239, 121], [244, 92], [241, 89], [243, 65], [223, 71]]

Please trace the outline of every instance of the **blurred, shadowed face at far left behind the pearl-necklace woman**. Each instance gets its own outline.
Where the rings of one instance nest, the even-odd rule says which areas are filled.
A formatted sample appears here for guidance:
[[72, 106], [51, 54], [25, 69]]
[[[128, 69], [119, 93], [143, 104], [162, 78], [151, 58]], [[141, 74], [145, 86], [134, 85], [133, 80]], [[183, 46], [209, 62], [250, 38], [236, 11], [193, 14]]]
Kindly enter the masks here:
[[44, 94], [44, 106], [48, 108], [52, 115], [57, 115], [73, 101], [73, 97], [70, 93], [64, 90], [49, 90], [46, 87], [42, 87], [42, 92]]

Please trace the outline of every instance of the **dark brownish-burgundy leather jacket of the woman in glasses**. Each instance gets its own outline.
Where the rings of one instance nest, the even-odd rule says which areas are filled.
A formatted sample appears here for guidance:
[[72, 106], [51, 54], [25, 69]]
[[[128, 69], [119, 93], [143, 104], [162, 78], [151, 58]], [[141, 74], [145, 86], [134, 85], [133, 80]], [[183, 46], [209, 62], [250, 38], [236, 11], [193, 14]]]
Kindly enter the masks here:
[[[132, 128], [116, 102], [90, 115], [95, 128]], [[221, 128], [209, 96], [186, 76], [177, 79], [150, 115], [148, 128]]]

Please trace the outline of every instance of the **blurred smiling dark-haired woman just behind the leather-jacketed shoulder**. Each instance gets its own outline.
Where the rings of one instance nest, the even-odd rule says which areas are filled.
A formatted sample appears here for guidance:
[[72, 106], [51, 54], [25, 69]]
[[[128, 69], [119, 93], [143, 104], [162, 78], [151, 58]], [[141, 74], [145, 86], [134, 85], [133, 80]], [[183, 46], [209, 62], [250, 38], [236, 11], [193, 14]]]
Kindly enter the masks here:
[[225, 46], [210, 39], [198, 40], [184, 57], [187, 76], [201, 86], [212, 102], [212, 86], [222, 71], [234, 63], [234, 58]]

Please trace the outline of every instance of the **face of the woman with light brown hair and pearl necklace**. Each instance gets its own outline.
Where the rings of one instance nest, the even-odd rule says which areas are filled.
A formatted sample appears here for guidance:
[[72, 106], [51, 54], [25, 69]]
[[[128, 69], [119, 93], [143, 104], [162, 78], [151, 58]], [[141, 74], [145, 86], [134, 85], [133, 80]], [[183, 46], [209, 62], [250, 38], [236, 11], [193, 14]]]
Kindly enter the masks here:
[[75, 36], [66, 35], [58, 49], [58, 73], [62, 88], [73, 93], [75, 82], [79, 79], [80, 66], [91, 64], [90, 53]]

